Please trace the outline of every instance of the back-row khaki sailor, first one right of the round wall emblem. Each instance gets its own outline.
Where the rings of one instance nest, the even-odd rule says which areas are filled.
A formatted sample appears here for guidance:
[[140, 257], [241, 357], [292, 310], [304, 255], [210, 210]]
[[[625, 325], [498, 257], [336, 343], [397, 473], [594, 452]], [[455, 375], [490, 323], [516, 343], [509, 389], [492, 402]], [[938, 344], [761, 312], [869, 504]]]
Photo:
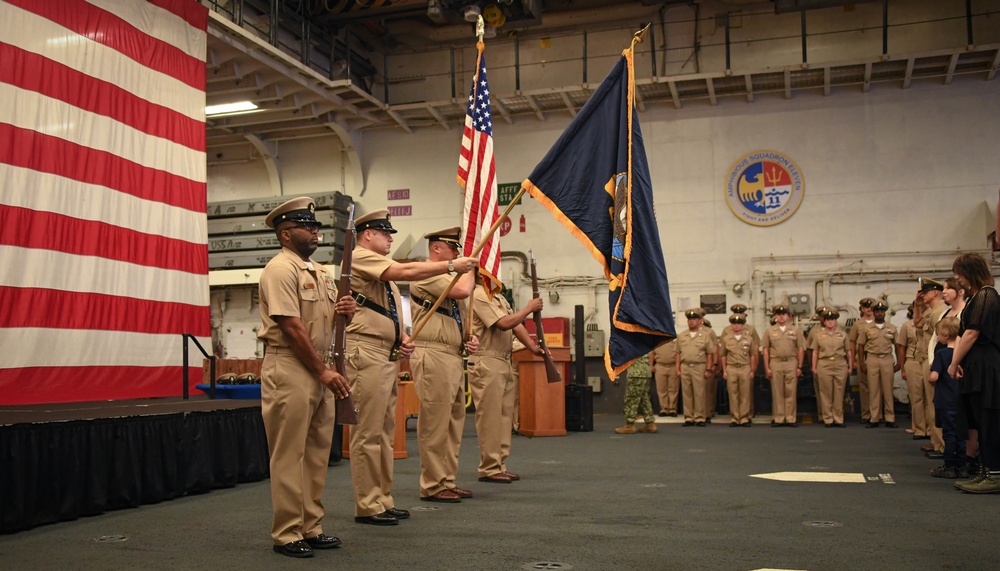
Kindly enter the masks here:
[[827, 428], [844, 428], [844, 389], [851, 370], [851, 340], [839, 327], [840, 314], [824, 308], [822, 325], [814, 327], [812, 338], [812, 370], [816, 376], [819, 396], [819, 416]]

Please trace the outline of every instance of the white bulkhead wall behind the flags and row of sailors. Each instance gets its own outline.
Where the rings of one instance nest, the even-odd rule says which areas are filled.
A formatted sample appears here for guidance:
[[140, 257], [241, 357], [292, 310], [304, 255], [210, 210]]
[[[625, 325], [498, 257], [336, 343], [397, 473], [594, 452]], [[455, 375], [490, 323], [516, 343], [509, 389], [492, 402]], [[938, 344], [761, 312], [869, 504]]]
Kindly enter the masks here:
[[[955, 6], [945, 8], [945, 4]], [[957, 7], [959, 4], [963, 6]], [[934, 13], [948, 18], [953, 16], [945, 13], [949, 10], [964, 11], [962, 2], [926, 1], [914, 5], [918, 8], [914, 19]], [[856, 10], [873, 23], [881, 18], [879, 6], [858, 4]], [[868, 13], [873, 10], [876, 13]], [[689, 17], [683, 12], [669, 10], [668, 21]], [[843, 17], [851, 16], [845, 13]], [[788, 58], [800, 59], [797, 39], [794, 45], [780, 49], [758, 53], [754, 44], [746, 51], [753, 44], [746, 38], [752, 36], [754, 19], [744, 17], [739, 28], [742, 31], [733, 30], [734, 42], [744, 34], [739, 36], [744, 51], [734, 48], [734, 69], [743, 65], [759, 69], [767, 61], [781, 65], [788, 63]], [[772, 14], [767, 21], [772, 25], [777, 20]], [[797, 14], [783, 16], [780, 22], [797, 33]], [[822, 29], [818, 20], [809, 22], [811, 33]], [[826, 27], [833, 29], [835, 24], [827, 22]], [[950, 29], [955, 26], [960, 29]], [[941, 39], [933, 35], [921, 38], [912, 30], [894, 32], [898, 37], [891, 39], [890, 45], [893, 41], [913, 42], [907, 46], [920, 51], [939, 44], [953, 45], [951, 36], [955, 33], [964, 37], [964, 21], [946, 28], [934, 28], [939, 35], [948, 36]], [[671, 46], [675, 40], [681, 42], [681, 28], [676, 32], [668, 40]], [[693, 34], [693, 29], [688, 33]], [[699, 30], [705, 44], [721, 41], [721, 33], [720, 29]], [[1000, 34], [996, 30], [976, 33], [977, 38]], [[824, 49], [831, 59], [839, 55], [837, 60], [870, 55], [873, 50], [880, 52], [881, 30], [858, 34], [864, 34], [864, 41], [858, 36]], [[614, 36], [613, 41], [602, 43], [602, 35]], [[619, 35], [591, 34], [591, 51], [609, 54], [612, 47], [620, 51]], [[781, 34], [768, 32], [768, 36], [777, 35]], [[876, 38], [874, 47], [869, 36]], [[826, 53], [819, 46], [834, 41], [834, 37], [811, 38], [810, 53], [814, 53], [813, 46], [817, 46], [815, 53]], [[553, 44], [557, 41], [553, 38]], [[522, 50], [528, 49], [527, 43], [523, 43]], [[724, 54], [720, 63], [712, 49], [716, 48], [703, 49], [699, 56], [702, 70], [724, 67]], [[512, 93], [513, 84], [504, 83], [508, 81], [503, 79], [504, 72], [493, 71], [494, 66], [510, 65], [505, 61], [508, 56], [501, 54], [502, 50], [497, 52], [488, 52], [492, 90]], [[749, 57], [747, 54], [753, 61], [744, 64], [740, 58]], [[531, 57], [522, 51], [522, 64]], [[390, 58], [390, 66], [392, 61]], [[590, 82], [603, 79], [612, 64], [613, 58], [609, 57], [603, 71], [591, 69]], [[644, 69], [640, 67], [643, 65], [650, 64], [637, 58], [637, 69]], [[670, 61], [665, 65], [670, 73], [691, 71], [671, 69], [675, 64]], [[408, 69], [420, 73], [418, 67]], [[549, 72], [556, 73], [554, 68]], [[522, 86], [528, 89], [524, 73]], [[579, 73], [578, 66], [575, 73]], [[460, 97], [468, 89], [466, 75], [463, 73], [459, 82]], [[639, 75], [648, 76], [648, 72]], [[560, 81], [559, 85], [566, 85], [579, 79]], [[855, 317], [861, 297], [886, 295], [896, 309], [912, 299], [916, 275], [949, 276], [954, 253], [986, 248], [986, 235], [992, 229], [992, 209], [1000, 186], [1000, 165], [996, 161], [1000, 133], [995, 128], [1000, 124], [997, 81], [985, 81], [984, 75], [957, 77], [944, 86], [941, 78], [935, 78], [914, 80], [905, 90], [898, 83], [875, 83], [867, 94], [856, 86], [834, 88], [829, 96], [823, 96], [822, 89], [796, 91], [791, 100], [775, 93], [758, 94], [753, 103], [743, 97], [730, 97], [720, 98], [717, 106], [707, 101], [686, 102], [681, 109], [647, 106], [640, 113], [640, 121], [674, 309], [698, 305], [702, 294], [727, 294], [727, 305], [739, 301], [753, 306], [751, 322], [761, 326], [766, 305], [783, 296], [805, 293], [812, 297], [814, 306], [834, 304], [841, 307], [845, 317]], [[412, 82], [413, 89], [429, 82]], [[407, 85], [402, 82], [391, 87], [395, 93], [409, 89]], [[450, 84], [443, 97], [434, 94], [427, 99], [449, 96]], [[517, 116], [513, 125], [495, 122], [499, 182], [526, 178], [569, 120], [567, 112], [565, 117], [549, 116], [546, 121], [527, 115]], [[412, 216], [393, 220], [400, 230], [395, 236], [397, 245], [407, 237], [419, 241], [429, 230], [460, 223], [462, 199], [455, 183], [460, 138], [457, 126], [451, 130], [440, 126], [417, 129], [413, 134], [398, 129], [371, 129], [356, 134], [365, 175], [364, 194], [353, 194], [360, 211], [412, 206]], [[339, 151], [331, 152], [339, 148], [340, 141], [333, 136], [280, 142], [284, 194], [340, 190], [344, 160]], [[763, 149], [788, 155], [805, 179], [805, 196], [799, 210], [772, 227], [754, 227], [737, 219], [724, 194], [733, 163], [751, 151]], [[347, 171], [346, 176], [360, 176]], [[266, 185], [265, 169], [253, 162], [209, 169], [209, 201], [265, 196], [262, 193], [267, 192]], [[410, 189], [410, 200], [388, 201], [386, 191], [400, 188]], [[519, 231], [522, 216], [524, 233]], [[527, 252], [533, 248], [539, 275], [547, 284], [543, 285], [543, 296], [548, 299], [544, 290], [559, 292], [557, 303], [547, 302], [546, 315], [572, 317], [573, 306], [583, 304], [588, 318], [606, 328], [606, 285], [587, 251], [530, 198], [515, 207], [511, 217], [513, 230], [501, 239], [503, 249]], [[394, 250], [393, 254], [406, 253]], [[508, 260], [504, 278], [515, 287], [516, 301], [523, 303], [530, 296], [530, 288], [520, 275], [521, 269], [519, 262]], [[744, 284], [741, 295], [734, 293], [737, 284]], [[239, 321], [235, 315], [234, 320]], [[724, 318], [713, 318], [713, 322], [717, 331], [725, 325]]]

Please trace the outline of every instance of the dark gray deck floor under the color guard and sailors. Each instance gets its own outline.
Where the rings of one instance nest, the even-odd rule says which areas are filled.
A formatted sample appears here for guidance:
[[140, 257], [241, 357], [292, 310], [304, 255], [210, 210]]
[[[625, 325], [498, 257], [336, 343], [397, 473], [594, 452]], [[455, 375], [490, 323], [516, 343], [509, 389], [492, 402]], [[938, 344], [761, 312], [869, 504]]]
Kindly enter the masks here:
[[[523, 479], [498, 485], [476, 481], [470, 415], [459, 485], [476, 497], [452, 505], [417, 499], [414, 424], [410, 457], [396, 462], [394, 490], [397, 507], [413, 511], [410, 520], [395, 527], [355, 524], [350, 467], [344, 461], [330, 468], [325, 531], [344, 541], [342, 549], [307, 560], [272, 553], [264, 481], [0, 536], [0, 567], [1000, 568], [1000, 496], [961, 494], [951, 481], [931, 478], [935, 462], [917, 451], [924, 442], [902, 428], [671, 423], [659, 425], [657, 434], [618, 436], [612, 429], [620, 417], [599, 415], [594, 432], [515, 437], [509, 467]], [[750, 477], [784, 471], [860, 473], [868, 481]], [[890, 479], [894, 483], [885, 483]], [[125, 540], [97, 541], [117, 535]]]

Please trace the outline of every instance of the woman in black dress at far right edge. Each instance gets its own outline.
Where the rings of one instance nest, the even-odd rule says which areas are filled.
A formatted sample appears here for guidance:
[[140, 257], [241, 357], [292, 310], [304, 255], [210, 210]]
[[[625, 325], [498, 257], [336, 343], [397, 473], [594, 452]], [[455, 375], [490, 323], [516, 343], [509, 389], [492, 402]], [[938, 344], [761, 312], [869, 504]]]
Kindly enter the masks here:
[[989, 264], [962, 254], [952, 265], [969, 300], [962, 311], [961, 339], [948, 374], [958, 379], [959, 424], [979, 432], [980, 472], [955, 487], [973, 494], [1000, 493], [1000, 295]]

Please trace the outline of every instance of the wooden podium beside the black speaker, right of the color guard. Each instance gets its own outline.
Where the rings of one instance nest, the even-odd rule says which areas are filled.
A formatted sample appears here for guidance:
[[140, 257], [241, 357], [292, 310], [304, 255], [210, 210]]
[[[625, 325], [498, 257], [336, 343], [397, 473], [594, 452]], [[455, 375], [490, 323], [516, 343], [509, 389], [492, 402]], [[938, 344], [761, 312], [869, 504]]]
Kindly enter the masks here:
[[[556, 368], [565, 375], [569, 347], [550, 347]], [[520, 427], [527, 436], [566, 436], [566, 383], [545, 378], [545, 360], [527, 349], [515, 351], [520, 397]]]

